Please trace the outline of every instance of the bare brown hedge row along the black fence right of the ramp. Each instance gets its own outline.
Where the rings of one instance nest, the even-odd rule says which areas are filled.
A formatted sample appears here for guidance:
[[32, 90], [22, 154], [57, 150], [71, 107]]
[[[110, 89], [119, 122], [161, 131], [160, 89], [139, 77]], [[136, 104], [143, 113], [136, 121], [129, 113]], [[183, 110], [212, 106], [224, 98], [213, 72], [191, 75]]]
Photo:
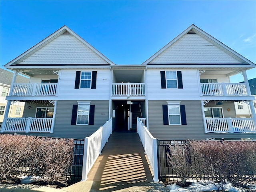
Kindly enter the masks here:
[[183, 146], [169, 145], [169, 149], [169, 166], [183, 183], [190, 174], [234, 185], [256, 181], [254, 141], [190, 141]]

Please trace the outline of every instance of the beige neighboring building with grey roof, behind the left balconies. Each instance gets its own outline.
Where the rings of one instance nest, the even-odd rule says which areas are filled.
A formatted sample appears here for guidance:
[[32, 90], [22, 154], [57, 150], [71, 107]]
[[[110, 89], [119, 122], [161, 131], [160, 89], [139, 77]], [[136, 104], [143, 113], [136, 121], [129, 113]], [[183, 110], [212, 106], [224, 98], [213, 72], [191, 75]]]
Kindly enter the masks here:
[[[0, 69], [0, 125], [4, 120], [4, 113], [6, 109], [6, 96], [9, 95], [10, 87], [12, 84], [12, 76], [13, 72]], [[29, 79], [23, 76], [17, 76], [16, 78], [17, 83], [28, 83]], [[19, 118], [23, 115], [24, 110], [24, 102], [13, 102], [8, 117], [10, 118]]]

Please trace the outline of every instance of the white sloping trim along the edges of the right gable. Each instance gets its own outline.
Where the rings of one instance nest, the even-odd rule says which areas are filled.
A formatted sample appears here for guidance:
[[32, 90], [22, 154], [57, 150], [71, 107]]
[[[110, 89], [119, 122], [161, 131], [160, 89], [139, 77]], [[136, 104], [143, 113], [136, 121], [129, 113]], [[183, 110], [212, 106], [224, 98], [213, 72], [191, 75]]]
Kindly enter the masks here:
[[186, 30], [184, 30], [181, 34], [179, 34], [176, 38], [174, 38], [172, 41], [170, 41], [168, 44], [166, 44], [166, 46], [164, 46], [162, 49], [160, 49], [158, 52], [156, 52], [148, 60], [143, 62], [142, 65], [149, 64], [154, 58], [159, 56], [162, 52], [164, 52], [164, 50], [166, 50], [168, 47], [170, 47], [172, 44], [174, 44], [177, 40], [179, 40], [182, 36], [184, 36], [185, 34], [187, 34], [191, 30], [196, 32], [198, 35], [202, 36], [203, 38], [205, 38], [205, 37], [208, 38], [218, 48], [226, 49], [228, 52], [230, 52], [234, 56], [236, 56], [236, 57], [240, 58], [241, 60], [243, 60], [244, 62], [248, 63], [248, 65], [250, 65], [252, 67], [255, 67], [255, 64], [253, 62], [251, 62], [250, 60], [244, 58], [242, 55], [238, 54], [237, 52], [235, 52], [234, 50], [232, 50], [231, 48], [229, 48], [228, 46], [226, 46], [222, 42], [220, 42], [217, 39], [215, 39], [214, 37], [210, 36], [209, 34], [204, 32], [203, 30], [201, 30], [200, 28], [195, 26], [194, 24], [192, 24], [190, 27], [188, 27]]

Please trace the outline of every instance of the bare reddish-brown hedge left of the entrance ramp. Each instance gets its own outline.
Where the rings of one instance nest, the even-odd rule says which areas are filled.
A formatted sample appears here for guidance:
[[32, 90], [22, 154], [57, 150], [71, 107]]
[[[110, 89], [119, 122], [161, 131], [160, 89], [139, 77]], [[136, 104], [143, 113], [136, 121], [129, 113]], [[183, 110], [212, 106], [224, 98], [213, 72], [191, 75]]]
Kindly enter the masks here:
[[36, 136], [0, 135], [0, 181], [21, 172], [46, 182], [61, 182], [70, 172], [74, 140]]

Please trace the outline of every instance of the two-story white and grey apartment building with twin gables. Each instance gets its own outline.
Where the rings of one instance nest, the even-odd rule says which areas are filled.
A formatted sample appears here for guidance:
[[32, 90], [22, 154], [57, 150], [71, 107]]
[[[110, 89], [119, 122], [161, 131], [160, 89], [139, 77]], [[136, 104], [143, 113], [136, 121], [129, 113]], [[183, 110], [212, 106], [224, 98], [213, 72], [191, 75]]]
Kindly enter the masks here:
[[[159, 139], [256, 138], [255, 64], [194, 25], [141, 65], [116, 65], [63, 26], [5, 67], [30, 82], [12, 84], [6, 108], [28, 107], [1, 132], [84, 138], [111, 117], [113, 130], [136, 129], [139, 117]], [[241, 72], [245, 83], [230, 83]], [[236, 118], [240, 100], [252, 118]]]

